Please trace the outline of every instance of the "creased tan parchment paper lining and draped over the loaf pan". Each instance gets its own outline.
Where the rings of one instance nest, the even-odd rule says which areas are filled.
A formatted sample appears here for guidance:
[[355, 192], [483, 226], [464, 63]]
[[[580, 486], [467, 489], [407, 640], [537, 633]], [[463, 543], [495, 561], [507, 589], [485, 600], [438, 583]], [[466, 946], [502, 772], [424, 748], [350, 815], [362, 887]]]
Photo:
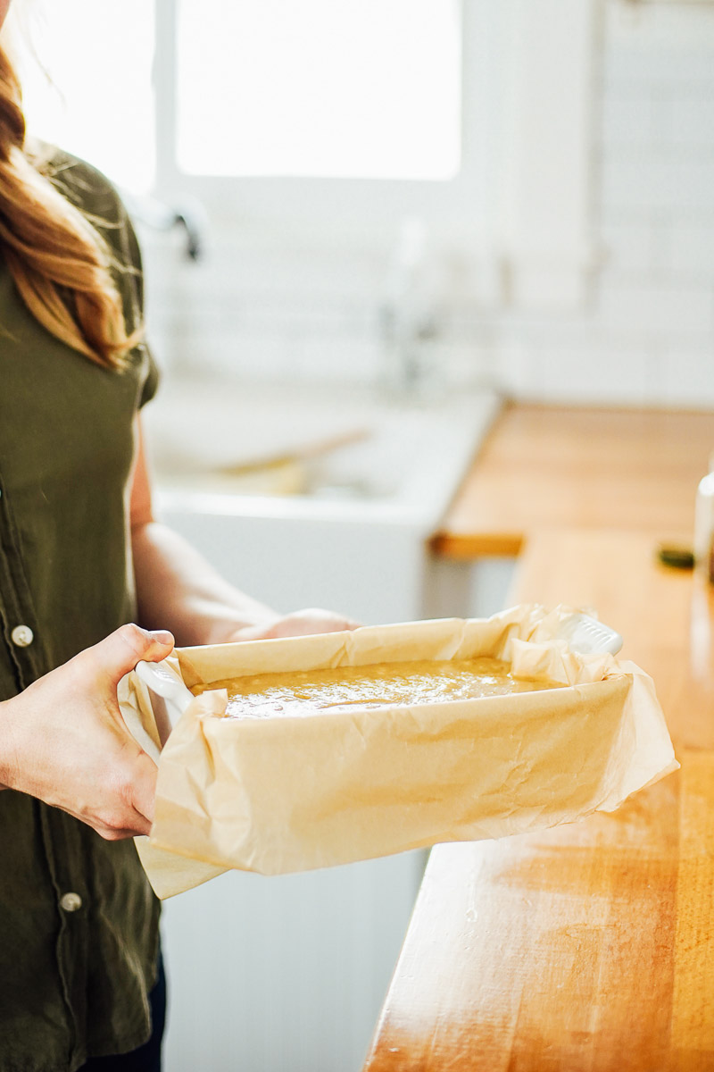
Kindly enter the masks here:
[[[307, 717], [222, 717], [196, 697], [157, 757], [150, 696], [121, 683], [130, 728], [158, 758], [137, 846], [161, 897], [227, 868], [278, 875], [439, 842], [503, 837], [614, 810], [679, 765], [652, 680], [557, 638], [569, 608], [516, 607], [353, 632], [177, 650], [191, 687], [222, 678], [492, 655], [568, 687]], [[147, 747], [146, 744], [143, 744]]]

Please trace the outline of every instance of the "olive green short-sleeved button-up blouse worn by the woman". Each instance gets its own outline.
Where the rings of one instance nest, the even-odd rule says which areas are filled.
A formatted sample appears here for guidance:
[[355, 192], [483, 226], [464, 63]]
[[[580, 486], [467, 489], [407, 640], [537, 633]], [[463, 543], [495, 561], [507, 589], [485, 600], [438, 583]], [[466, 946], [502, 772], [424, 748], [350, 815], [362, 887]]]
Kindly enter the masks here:
[[[136, 239], [106, 179], [66, 155], [52, 181], [102, 226], [127, 323]], [[127, 538], [133, 419], [155, 389], [148, 349], [100, 368], [31, 316], [0, 258], [0, 700], [134, 615]], [[0, 792], [0, 1069], [74, 1072], [150, 1033], [158, 904], [134, 843]]]

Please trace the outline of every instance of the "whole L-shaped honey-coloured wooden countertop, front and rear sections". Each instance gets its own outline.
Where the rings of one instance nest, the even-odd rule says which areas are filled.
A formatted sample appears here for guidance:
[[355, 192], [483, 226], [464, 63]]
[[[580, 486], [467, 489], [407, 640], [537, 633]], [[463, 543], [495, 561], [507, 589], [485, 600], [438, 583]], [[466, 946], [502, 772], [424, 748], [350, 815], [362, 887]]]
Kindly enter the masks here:
[[[545, 413], [511, 411], [501, 427], [541, 425], [529, 457], [560, 444], [553, 459], [571, 487], [580, 478], [562, 456], [564, 429], [590, 429], [581, 446], [598, 460], [595, 486], [608, 498], [594, 429], [609, 415], [575, 422], [568, 411], [555, 427]], [[624, 428], [621, 416], [611, 427]], [[508, 503], [507, 523], [480, 528], [475, 540], [482, 553], [492, 552], [491, 536], [523, 546], [510, 601], [591, 606], [623, 634], [622, 657], [655, 680], [681, 770], [613, 815], [434, 849], [365, 1072], [714, 1070], [714, 595], [655, 556], [663, 536], [690, 532], [714, 417], [635, 423], [629, 453], [609, 443], [620, 489], [609, 517], [583, 495], [568, 506], [555, 481], [553, 524], [536, 498], [518, 528]], [[662, 443], [654, 457], [641, 450], [650, 435]], [[487, 451], [504, 463], [498, 430]], [[472, 501], [488, 503], [492, 475], [473, 474]], [[525, 503], [527, 485], [511, 483]], [[568, 511], [577, 517], [565, 525]], [[449, 532], [469, 536], [456, 522]]]

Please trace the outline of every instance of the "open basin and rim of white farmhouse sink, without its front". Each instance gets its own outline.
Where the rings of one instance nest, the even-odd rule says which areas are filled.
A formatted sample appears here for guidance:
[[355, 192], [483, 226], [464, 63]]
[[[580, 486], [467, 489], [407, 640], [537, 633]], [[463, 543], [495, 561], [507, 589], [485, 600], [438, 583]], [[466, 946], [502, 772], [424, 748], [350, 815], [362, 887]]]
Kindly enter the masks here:
[[164, 509], [428, 535], [498, 405], [486, 391], [416, 406], [367, 390], [179, 381], [146, 423]]

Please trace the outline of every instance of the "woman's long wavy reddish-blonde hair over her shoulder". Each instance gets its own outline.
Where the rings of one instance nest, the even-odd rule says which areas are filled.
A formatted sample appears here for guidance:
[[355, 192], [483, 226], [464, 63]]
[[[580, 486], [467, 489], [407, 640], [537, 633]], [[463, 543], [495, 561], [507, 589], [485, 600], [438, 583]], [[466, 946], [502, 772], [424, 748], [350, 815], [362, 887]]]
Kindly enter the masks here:
[[92, 361], [120, 367], [126, 332], [116, 265], [96, 227], [49, 181], [26, 144], [18, 79], [0, 47], [0, 253], [33, 316]]

